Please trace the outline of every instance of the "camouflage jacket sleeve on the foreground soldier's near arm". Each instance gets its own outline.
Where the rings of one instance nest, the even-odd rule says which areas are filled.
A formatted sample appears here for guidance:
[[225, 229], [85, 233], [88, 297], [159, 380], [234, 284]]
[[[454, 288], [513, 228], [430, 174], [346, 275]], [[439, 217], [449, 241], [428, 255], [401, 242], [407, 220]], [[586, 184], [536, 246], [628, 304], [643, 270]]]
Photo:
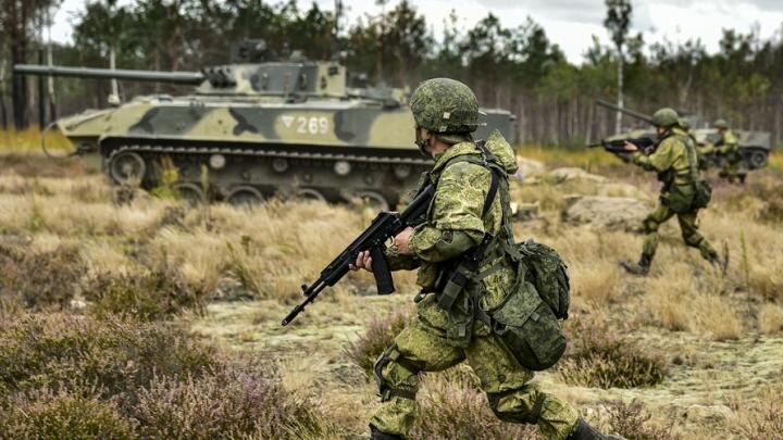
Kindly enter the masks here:
[[419, 225], [411, 236], [411, 248], [421, 260], [446, 261], [481, 241], [481, 214], [490, 180], [489, 169], [468, 162], [457, 162], [443, 171], [431, 221]]

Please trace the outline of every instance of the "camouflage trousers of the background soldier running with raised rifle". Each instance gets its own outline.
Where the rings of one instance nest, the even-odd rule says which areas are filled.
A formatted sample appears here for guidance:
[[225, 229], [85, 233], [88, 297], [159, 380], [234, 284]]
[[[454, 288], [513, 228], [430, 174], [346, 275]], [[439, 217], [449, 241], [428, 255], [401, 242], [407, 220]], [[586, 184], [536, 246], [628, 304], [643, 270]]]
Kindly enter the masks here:
[[652, 261], [656, 249], [658, 249], [658, 241], [660, 240], [658, 228], [674, 215], [678, 216], [680, 231], [682, 232], [685, 244], [698, 249], [705, 260], [712, 261], [717, 259], [718, 252], [698, 231], [698, 211], [676, 214], [664, 204], [658, 204], [658, 208], [644, 221], [645, 240], [642, 253], [646, 255], [649, 261]]

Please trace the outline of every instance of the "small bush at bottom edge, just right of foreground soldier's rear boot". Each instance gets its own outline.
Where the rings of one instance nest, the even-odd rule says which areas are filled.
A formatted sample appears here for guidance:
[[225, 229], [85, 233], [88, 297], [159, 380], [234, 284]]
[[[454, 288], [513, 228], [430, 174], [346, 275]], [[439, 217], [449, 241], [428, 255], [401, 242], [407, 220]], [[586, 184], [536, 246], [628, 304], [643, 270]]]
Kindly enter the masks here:
[[676, 439], [672, 432], [673, 423], [668, 426], [648, 425], [650, 414], [639, 401], [623, 403], [621, 400], [609, 402], [607, 407], [609, 425], [612, 431], [630, 440], [664, 440]]

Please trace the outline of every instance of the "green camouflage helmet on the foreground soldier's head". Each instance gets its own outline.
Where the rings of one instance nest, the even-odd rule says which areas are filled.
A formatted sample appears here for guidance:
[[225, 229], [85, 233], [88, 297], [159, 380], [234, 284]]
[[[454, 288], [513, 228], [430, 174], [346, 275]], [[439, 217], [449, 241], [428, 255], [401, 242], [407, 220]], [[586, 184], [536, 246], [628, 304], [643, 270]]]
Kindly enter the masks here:
[[435, 134], [467, 135], [478, 128], [478, 101], [470, 87], [449, 78], [427, 79], [410, 100], [413, 118]]

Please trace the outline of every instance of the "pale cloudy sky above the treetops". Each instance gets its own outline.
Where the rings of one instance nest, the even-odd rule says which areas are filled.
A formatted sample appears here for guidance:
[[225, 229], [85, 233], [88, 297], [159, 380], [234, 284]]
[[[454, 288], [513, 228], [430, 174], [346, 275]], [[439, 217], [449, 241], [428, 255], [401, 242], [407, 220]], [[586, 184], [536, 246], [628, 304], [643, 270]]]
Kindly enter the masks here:
[[[86, 0], [65, 0], [54, 16], [52, 38], [71, 39], [71, 22], [84, 9]], [[315, 0], [323, 9], [333, 9], [334, 0]], [[132, 3], [121, 0], [121, 3]], [[299, 0], [302, 5], [308, 0]], [[350, 21], [364, 14], [376, 14], [375, 0], [344, 0]], [[396, 0], [390, 0], [391, 8]], [[508, 27], [524, 23], [530, 15], [542, 24], [549, 38], [558, 43], [570, 61], [579, 63], [591, 45], [592, 36], [608, 41], [602, 21], [604, 0], [413, 0], [439, 36], [444, 20], [455, 9], [460, 25], [470, 28], [493, 12]], [[759, 32], [762, 38], [781, 38], [783, 0], [634, 0], [633, 28], [645, 41], [673, 42], [699, 38], [709, 51], [718, 48], [721, 29]]]

